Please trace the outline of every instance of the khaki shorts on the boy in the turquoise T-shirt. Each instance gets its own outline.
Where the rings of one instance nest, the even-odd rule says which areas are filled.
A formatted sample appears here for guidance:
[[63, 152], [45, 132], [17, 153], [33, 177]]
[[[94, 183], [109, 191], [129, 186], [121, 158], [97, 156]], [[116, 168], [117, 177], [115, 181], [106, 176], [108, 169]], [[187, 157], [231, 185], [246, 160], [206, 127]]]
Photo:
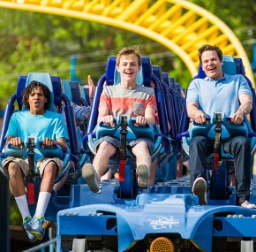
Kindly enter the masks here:
[[[36, 169], [37, 169], [37, 171], [39, 172], [40, 175], [42, 174], [45, 166], [47, 164], [49, 164], [49, 162], [51, 162], [51, 161], [56, 163], [56, 166], [58, 168], [57, 176], [60, 174], [60, 172], [62, 172], [64, 163], [60, 158], [58, 158], [58, 157], [52, 157], [52, 158], [43, 157], [43, 158], [39, 159], [36, 163]], [[4, 169], [4, 173], [7, 176], [9, 176], [7, 168], [8, 168], [8, 164], [10, 162], [15, 162], [16, 164], [19, 164], [22, 172], [24, 173], [24, 176], [26, 177], [28, 175], [29, 166], [28, 166], [28, 159], [27, 158], [22, 158], [22, 157], [7, 157], [7, 158], [5, 158], [4, 161], [3, 161], [3, 169]]]

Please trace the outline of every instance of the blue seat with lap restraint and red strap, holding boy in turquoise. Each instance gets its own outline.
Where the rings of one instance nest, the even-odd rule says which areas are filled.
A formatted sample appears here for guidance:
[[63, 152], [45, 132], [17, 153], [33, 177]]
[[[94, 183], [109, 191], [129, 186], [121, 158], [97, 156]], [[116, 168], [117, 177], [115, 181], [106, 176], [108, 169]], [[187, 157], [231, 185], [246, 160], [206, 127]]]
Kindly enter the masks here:
[[[50, 111], [56, 111], [56, 107], [60, 106], [60, 103], [65, 103], [65, 113], [67, 119], [68, 134], [71, 141], [69, 141], [69, 151], [63, 153], [62, 149], [58, 146], [54, 148], [42, 149], [41, 141], [37, 141], [34, 137], [29, 137], [24, 140], [24, 148], [17, 149], [10, 144], [4, 147], [5, 134], [7, 132], [10, 118], [15, 108], [15, 102], [18, 105], [18, 111], [24, 110], [22, 104], [22, 91], [32, 81], [38, 80], [45, 84], [51, 92], [51, 106]], [[72, 119], [71, 119], [72, 118]], [[72, 106], [69, 99], [61, 94], [61, 80], [57, 76], [50, 76], [49, 73], [29, 73], [27, 76], [19, 76], [16, 94], [11, 95], [9, 102], [7, 103], [4, 111], [3, 127], [0, 136], [0, 149], [1, 149], [1, 164], [5, 157], [28, 157], [30, 174], [26, 178], [27, 197], [29, 208], [31, 213], [35, 211], [35, 203], [39, 194], [39, 188], [41, 178], [36, 169], [36, 161], [41, 157], [60, 157], [64, 161], [64, 168], [59, 176], [56, 178], [54, 190], [49, 202], [49, 207], [46, 211], [45, 218], [50, 221], [56, 221], [57, 210], [63, 210], [68, 207], [70, 185], [76, 183], [76, 178], [79, 177], [79, 168], [70, 169], [71, 161], [78, 167], [79, 163], [79, 149], [78, 143], [74, 141], [76, 138], [75, 124], [73, 120]], [[4, 172], [1, 167], [1, 172]]]

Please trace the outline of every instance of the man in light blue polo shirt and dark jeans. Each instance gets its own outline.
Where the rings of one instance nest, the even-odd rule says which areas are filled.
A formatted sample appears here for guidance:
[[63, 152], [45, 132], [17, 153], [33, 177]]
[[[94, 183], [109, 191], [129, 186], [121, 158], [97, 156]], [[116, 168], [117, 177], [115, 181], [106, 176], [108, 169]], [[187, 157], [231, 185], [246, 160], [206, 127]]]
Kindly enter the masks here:
[[[192, 80], [186, 97], [188, 117], [196, 123], [205, 123], [207, 116], [223, 112], [231, 122], [241, 124], [252, 111], [252, 92], [241, 74], [222, 72], [222, 50], [217, 46], [203, 45], [199, 58], [207, 77]], [[235, 136], [223, 142], [223, 149], [234, 157], [237, 180], [237, 205], [256, 209], [250, 199], [250, 141], [245, 136]], [[214, 150], [214, 141], [205, 136], [194, 136], [190, 141], [190, 169], [192, 193], [198, 195], [200, 204], [207, 204], [207, 155]]]

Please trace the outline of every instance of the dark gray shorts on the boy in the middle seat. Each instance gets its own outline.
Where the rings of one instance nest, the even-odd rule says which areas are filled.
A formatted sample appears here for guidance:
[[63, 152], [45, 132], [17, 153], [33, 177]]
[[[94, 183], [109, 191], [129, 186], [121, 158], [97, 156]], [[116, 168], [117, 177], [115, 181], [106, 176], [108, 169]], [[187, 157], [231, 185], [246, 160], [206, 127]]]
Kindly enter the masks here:
[[[113, 137], [113, 136], [103, 136], [101, 139], [95, 141], [94, 145], [95, 145], [95, 149], [97, 149], [99, 147], [99, 145], [102, 143], [102, 141], [108, 141], [109, 143], [111, 143], [112, 145], [114, 145], [115, 147], [117, 147], [117, 149], [120, 148], [120, 140], [117, 137]], [[149, 152], [151, 153], [154, 149], [154, 141], [146, 138], [146, 137], [140, 137], [136, 140], [132, 140], [128, 143], [128, 149], [131, 150], [132, 147], [134, 147], [137, 143], [139, 143], [140, 141], [146, 141], [147, 142], [147, 147], [149, 149]]]

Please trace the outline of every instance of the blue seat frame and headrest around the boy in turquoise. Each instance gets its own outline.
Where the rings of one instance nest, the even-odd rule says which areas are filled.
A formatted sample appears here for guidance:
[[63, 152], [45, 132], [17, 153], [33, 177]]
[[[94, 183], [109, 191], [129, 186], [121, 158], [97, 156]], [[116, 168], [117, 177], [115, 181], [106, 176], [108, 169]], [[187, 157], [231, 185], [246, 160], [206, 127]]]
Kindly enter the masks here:
[[[7, 103], [4, 111], [4, 121], [3, 121], [3, 130], [1, 132], [0, 136], [0, 149], [1, 149], [1, 157], [2, 159], [7, 157], [8, 155], [11, 156], [23, 156], [27, 157], [27, 149], [25, 148], [23, 153], [20, 153], [20, 149], [13, 149], [11, 146], [7, 146], [6, 149], [4, 149], [4, 143], [5, 143], [5, 134], [8, 129], [9, 121], [11, 118], [12, 113], [15, 112], [14, 110], [14, 103], [17, 102], [18, 104], [18, 110], [24, 110], [23, 104], [22, 104], [22, 91], [24, 88], [32, 81], [37, 80], [41, 83], [45, 84], [50, 92], [51, 92], [51, 106], [50, 111], [56, 111], [56, 107], [60, 106], [61, 103], [66, 104], [66, 117], [67, 119], [67, 129], [68, 134], [70, 136], [71, 141], [69, 142], [69, 150], [67, 153], [63, 153], [62, 149], [55, 146], [53, 149], [41, 149], [40, 142], [37, 142], [35, 140], [35, 161], [37, 158], [40, 157], [61, 157], [64, 160], [64, 169], [59, 174], [59, 176], [56, 178], [54, 191], [52, 193], [51, 197], [51, 204], [49, 204], [49, 208], [46, 213], [46, 217], [49, 220], [56, 219], [56, 210], [64, 209], [64, 197], [62, 197], [61, 203], [58, 202], [59, 197], [58, 193], [62, 191], [66, 179], [69, 179], [69, 172], [70, 172], [70, 162], [71, 160], [77, 159], [77, 154], [79, 153], [79, 149], [77, 148], [77, 142], [73, 141], [73, 138], [75, 136], [75, 125], [73, 120], [73, 113], [72, 113], [72, 106], [68, 98], [62, 94], [61, 89], [61, 79], [58, 76], [50, 76], [49, 73], [29, 73], [26, 75], [20, 75], [18, 79], [18, 84], [16, 88], [16, 93], [11, 95], [11, 98], [9, 99], [9, 102]], [[72, 118], [72, 119], [71, 119]], [[25, 145], [27, 146], [27, 141], [25, 142]], [[2, 160], [1, 160], [2, 164]], [[36, 165], [34, 165], [36, 167]], [[2, 167], [1, 167], [2, 171]], [[3, 172], [3, 171], [2, 171]], [[26, 181], [27, 184], [28, 181]], [[34, 170], [34, 194], [35, 197], [37, 197], [39, 193], [39, 187], [40, 187], [40, 177], [38, 176], [38, 172], [36, 169]], [[70, 186], [68, 186], [70, 187]], [[63, 193], [61, 193], [63, 194]], [[34, 201], [35, 202], [35, 201]], [[68, 205], [68, 202], [65, 202], [66, 206]], [[35, 205], [30, 205], [31, 211], [33, 212], [35, 210]]]

